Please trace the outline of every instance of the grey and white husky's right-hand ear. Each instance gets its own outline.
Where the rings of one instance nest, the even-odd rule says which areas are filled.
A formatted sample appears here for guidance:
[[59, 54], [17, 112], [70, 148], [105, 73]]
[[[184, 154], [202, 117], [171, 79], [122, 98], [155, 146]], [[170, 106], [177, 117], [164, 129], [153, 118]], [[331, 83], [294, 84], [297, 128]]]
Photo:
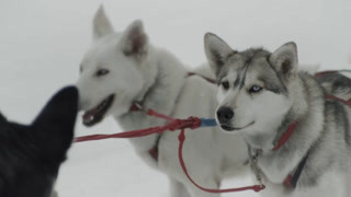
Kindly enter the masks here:
[[286, 80], [294, 78], [298, 67], [296, 44], [293, 42], [284, 44], [271, 55], [269, 60]]

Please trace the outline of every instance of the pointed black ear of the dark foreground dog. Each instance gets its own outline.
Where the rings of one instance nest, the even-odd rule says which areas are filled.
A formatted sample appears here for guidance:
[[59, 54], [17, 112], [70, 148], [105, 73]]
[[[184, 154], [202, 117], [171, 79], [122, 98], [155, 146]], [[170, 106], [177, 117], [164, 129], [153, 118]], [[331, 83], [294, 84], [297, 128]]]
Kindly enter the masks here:
[[67, 86], [58, 91], [32, 124], [32, 135], [48, 153], [64, 153], [69, 148], [78, 113], [78, 89]]

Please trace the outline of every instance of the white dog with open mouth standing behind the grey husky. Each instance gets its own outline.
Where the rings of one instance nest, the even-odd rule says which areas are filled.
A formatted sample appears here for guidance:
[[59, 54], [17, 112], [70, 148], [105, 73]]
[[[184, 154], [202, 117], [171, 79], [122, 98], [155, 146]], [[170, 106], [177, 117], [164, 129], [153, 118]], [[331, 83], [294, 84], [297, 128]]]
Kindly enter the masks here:
[[[124, 130], [165, 125], [143, 112], [131, 112], [133, 102], [145, 108], [177, 118], [214, 117], [216, 85], [193, 76], [176, 57], [148, 43], [140, 21], [115, 33], [100, 8], [93, 20], [94, 42], [81, 62], [78, 81], [83, 124], [92, 126], [112, 115]], [[173, 197], [219, 196], [195, 188], [184, 176], [178, 161], [179, 131], [167, 131], [131, 139], [135, 151], [147, 163], [170, 177]], [[157, 146], [156, 161], [149, 150]], [[186, 132], [184, 160], [191, 176], [204, 187], [218, 188], [226, 172], [242, 171], [247, 160], [242, 140], [215, 128]], [[230, 169], [229, 169], [230, 167]]]

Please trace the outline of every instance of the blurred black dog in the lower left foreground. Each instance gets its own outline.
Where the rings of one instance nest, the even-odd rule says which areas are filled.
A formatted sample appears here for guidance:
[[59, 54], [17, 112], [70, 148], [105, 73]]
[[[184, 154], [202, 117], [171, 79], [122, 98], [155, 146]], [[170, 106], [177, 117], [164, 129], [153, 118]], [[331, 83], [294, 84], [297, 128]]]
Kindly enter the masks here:
[[73, 140], [78, 90], [56, 93], [24, 126], [0, 114], [0, 197], [48, 197]]

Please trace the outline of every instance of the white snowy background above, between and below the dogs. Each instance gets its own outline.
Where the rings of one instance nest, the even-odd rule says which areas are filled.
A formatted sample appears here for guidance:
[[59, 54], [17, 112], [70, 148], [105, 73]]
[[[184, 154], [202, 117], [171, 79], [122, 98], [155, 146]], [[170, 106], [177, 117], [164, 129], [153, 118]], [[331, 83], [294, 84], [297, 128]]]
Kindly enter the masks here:
[[[0, 0], [0, 111], [30, 123], [59, 88], [75, 83], [91, 42], [99, 4], [115, 26], [141, 19], [154, 45], [194, 67], [205, 61], [203, 35], [213, 32], [236, 49], [275, 49], [295, 40], [302, 63], [351, 68], [351, 1], [347, 0]], [[113, 119], [77, 135], [117, 132]], [[226, 181], [224, 187], [250, 178]], [[168, 195], [166, 176], [139, 160], [127, 140], [75, 144], [61, 167], [61, 197]], [[252, 192], [224, 196], [257, 196]]]

